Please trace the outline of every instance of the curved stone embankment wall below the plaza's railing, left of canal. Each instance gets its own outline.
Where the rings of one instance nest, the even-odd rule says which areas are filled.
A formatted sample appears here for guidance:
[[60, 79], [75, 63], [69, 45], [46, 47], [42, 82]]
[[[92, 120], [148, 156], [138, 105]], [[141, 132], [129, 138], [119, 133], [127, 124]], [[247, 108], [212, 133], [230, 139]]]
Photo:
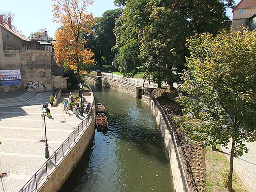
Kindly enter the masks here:
[[95, 133], [95, 118], [91, 119], [92, 122], [89, 127], [83, 132], [78, 140], [73, 142], [71, 150], [62, 159], [58, 168], [49, 176], [40, 192], [58, 192], [61, 189], [93, 138]]

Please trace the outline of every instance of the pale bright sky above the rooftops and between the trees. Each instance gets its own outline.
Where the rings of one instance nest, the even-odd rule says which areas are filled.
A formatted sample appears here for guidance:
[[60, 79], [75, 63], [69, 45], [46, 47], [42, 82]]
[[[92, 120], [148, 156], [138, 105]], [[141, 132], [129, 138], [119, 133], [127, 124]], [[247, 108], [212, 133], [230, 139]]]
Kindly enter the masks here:
[[[94, 13], [96, 17], [110, 9], [115, 9], [114, 0], [94, 0], [94, 4], [88, 7], [88, 11]], [[238, 4], [240, 0], [235, 0]], [[22, 31], [26, 37], [40, 28], [48, 30], [48, 36], [54, 38], [55, 30], [60, 26], [54, 23], [52, 12], [52, 0], [1, 0], [0, 10], [11, 11], [15, 13], [13, 25]], [[231, 9], [227, 15], [232, 18]]]

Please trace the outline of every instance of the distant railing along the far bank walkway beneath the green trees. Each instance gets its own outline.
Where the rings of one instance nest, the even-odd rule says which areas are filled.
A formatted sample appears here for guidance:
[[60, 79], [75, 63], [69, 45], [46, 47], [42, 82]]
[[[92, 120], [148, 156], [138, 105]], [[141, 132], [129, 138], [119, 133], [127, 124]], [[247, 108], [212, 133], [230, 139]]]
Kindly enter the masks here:
[[[95, 75], [91, 75], [91, 74], [86, 74], [85, 76], [96, 79], [97, 76]], [[120, 77], [120, 76], [115, 76], [115, 75], [104, 75], [104, 76], [98, 76], [101, 78], [108, 78], [108, 79], [113, 79], [116, 81], [121, 81], [121, 82], [125, 82], [131, 85], [136, 85], [142, 88], [153, 88], [156, 87], [155, 83], [151, 83], [149, 84], [148, 82], [142, 82], [142, 81], [135, 81], [133, 79], [129, 79], [129, 78], [124, 78], [124, 77]]]

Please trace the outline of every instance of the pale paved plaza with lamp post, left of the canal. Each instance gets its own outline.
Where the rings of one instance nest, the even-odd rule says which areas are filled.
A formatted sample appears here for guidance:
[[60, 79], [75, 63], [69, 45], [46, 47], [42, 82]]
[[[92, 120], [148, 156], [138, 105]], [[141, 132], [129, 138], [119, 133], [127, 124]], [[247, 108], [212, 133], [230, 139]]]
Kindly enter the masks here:
[[[21, 96], [20, 93], [0, 93], [0, 98]], [[0, 192], [18, 192], [45, 163], [44, 121], [40, 107], [49, 102], [52, 92], [37, 93], [25, 102], [0, 104]], [[46, 117], [50, 156], [59, 148], [83, 117], [63, 111], [61, 97], [56, 107], [49, 107], [52, 117]], [[90, 101], [89, 101], [90, 102]]]

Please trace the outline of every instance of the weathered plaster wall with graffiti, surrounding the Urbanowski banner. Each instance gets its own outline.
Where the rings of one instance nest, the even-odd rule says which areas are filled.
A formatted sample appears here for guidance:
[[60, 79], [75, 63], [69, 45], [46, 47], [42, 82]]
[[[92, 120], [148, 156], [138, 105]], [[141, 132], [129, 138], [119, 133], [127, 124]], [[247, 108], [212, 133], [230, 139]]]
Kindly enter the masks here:
[[0, 92], [52, 91], [51, 52], [42, 50], [1, 50], [0, 70], [21, 70], [21, 85], [0, 86]]

